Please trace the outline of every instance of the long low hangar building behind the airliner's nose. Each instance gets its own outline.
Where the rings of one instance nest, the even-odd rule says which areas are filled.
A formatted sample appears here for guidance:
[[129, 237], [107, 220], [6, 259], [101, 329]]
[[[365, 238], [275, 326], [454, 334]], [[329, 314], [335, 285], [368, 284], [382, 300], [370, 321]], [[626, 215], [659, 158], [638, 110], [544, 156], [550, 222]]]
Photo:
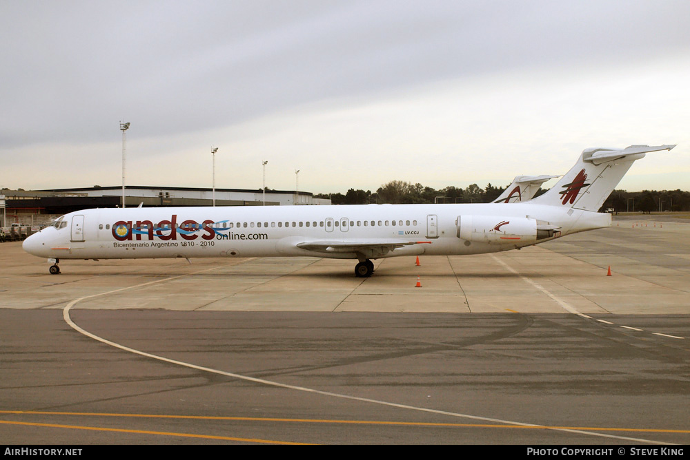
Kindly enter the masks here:
[[[52, 190], [0, 190], [6, 209], [0, 212], [7, 222], [23, 225], [44, 225], [63, 214], [91, 208], [114, 208], [122, 203], [122, 187], [88, 187]], [[126, 207], [213, 206], [213, 189], [193, 187], [138, 187], [125, 189]], [[261, 189], [215, 189], [216, 206], [261, 206]], [[308, 191], [266, 190], [266, 206], [330, 205], [331, 200], [314, 198]]]

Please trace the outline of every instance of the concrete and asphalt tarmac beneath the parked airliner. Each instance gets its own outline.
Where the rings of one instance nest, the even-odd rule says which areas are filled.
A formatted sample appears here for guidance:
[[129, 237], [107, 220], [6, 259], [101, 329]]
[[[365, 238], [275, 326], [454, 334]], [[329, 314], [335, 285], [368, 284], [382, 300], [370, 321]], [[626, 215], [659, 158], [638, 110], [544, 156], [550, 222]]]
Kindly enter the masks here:
[[689, 237], [614, 220], [368, 279], [318, 258], [50, 275], [0, 244], [3, 441], [688, 443]]

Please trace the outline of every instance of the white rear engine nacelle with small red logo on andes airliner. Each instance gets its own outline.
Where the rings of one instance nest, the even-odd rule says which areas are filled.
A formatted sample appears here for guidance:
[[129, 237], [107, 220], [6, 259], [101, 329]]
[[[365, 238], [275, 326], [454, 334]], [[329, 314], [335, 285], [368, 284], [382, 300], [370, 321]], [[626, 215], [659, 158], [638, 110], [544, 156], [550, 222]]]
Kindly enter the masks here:
[[457, 238], [466, 241], [521, 244], [537, 241], [537, 221], [524, 217], [458, 216]]

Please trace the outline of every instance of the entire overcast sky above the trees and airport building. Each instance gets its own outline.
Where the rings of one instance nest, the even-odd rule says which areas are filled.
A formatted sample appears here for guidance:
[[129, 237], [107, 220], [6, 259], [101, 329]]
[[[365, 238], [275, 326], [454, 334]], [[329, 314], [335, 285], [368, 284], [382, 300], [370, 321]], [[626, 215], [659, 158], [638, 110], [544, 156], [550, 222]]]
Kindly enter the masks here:
[[[0, 187], [505, 186], [586, 147], [678, 144], [690, 1], [0, 2]], [[546, 186], [553, 185], [548, 182]]]

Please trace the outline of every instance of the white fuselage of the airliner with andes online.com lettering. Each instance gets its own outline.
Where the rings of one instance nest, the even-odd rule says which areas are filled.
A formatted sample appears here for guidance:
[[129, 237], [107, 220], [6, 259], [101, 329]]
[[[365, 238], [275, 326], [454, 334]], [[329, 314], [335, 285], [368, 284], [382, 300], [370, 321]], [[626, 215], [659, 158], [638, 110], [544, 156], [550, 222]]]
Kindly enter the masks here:
[[[529, 203], [88, 209], [63, 216], [59, 224], [26, 240], [24, 247], [34, 255], [55, 259], [299, 255], [362, 259], [348, 247], [326, 244], [406, 244], [371, 258], [477, 254], [516, 249], [610, 224], [607, 214], [575, 210], [569, 215], [566, 211]], [[580, 219], [582, 214], [587, 218]], [[491, 222], [480, 229], [489, 232], [486, 238], [476, 232], [472, 238], [462, 238], [463, 216]], [[538, 221], [548, 222], [559, 227], [560, 233], [539, 240], [536, 230], [530, 229], [506, 233], [509, 227], [498, 227], [492, 233], [492, 226], [516, 219], [528, 226], [533, 222], [535, 228]], [[319, 251], [299, 247], [309, 242], [322, 242], [324, 247]]]

